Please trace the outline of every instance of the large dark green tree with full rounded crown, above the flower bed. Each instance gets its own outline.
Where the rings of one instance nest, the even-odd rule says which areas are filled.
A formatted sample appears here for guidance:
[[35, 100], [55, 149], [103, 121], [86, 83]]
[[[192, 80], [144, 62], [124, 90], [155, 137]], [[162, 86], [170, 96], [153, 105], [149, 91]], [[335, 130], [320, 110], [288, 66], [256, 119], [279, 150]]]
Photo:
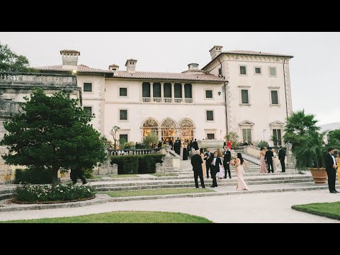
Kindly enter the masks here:
[[93, 116], [86, 115], [77, 100], [64, 92], [46, 96], [41, 89], [25, 99], [23, 113], [4, 123], [8, 134], [0, 144], [9, 149], [2, 156], [6, 164], [50, 169], [56, 185], [60, 169], [92, 169], [103, 162], [100, 133], [89, 125]]

